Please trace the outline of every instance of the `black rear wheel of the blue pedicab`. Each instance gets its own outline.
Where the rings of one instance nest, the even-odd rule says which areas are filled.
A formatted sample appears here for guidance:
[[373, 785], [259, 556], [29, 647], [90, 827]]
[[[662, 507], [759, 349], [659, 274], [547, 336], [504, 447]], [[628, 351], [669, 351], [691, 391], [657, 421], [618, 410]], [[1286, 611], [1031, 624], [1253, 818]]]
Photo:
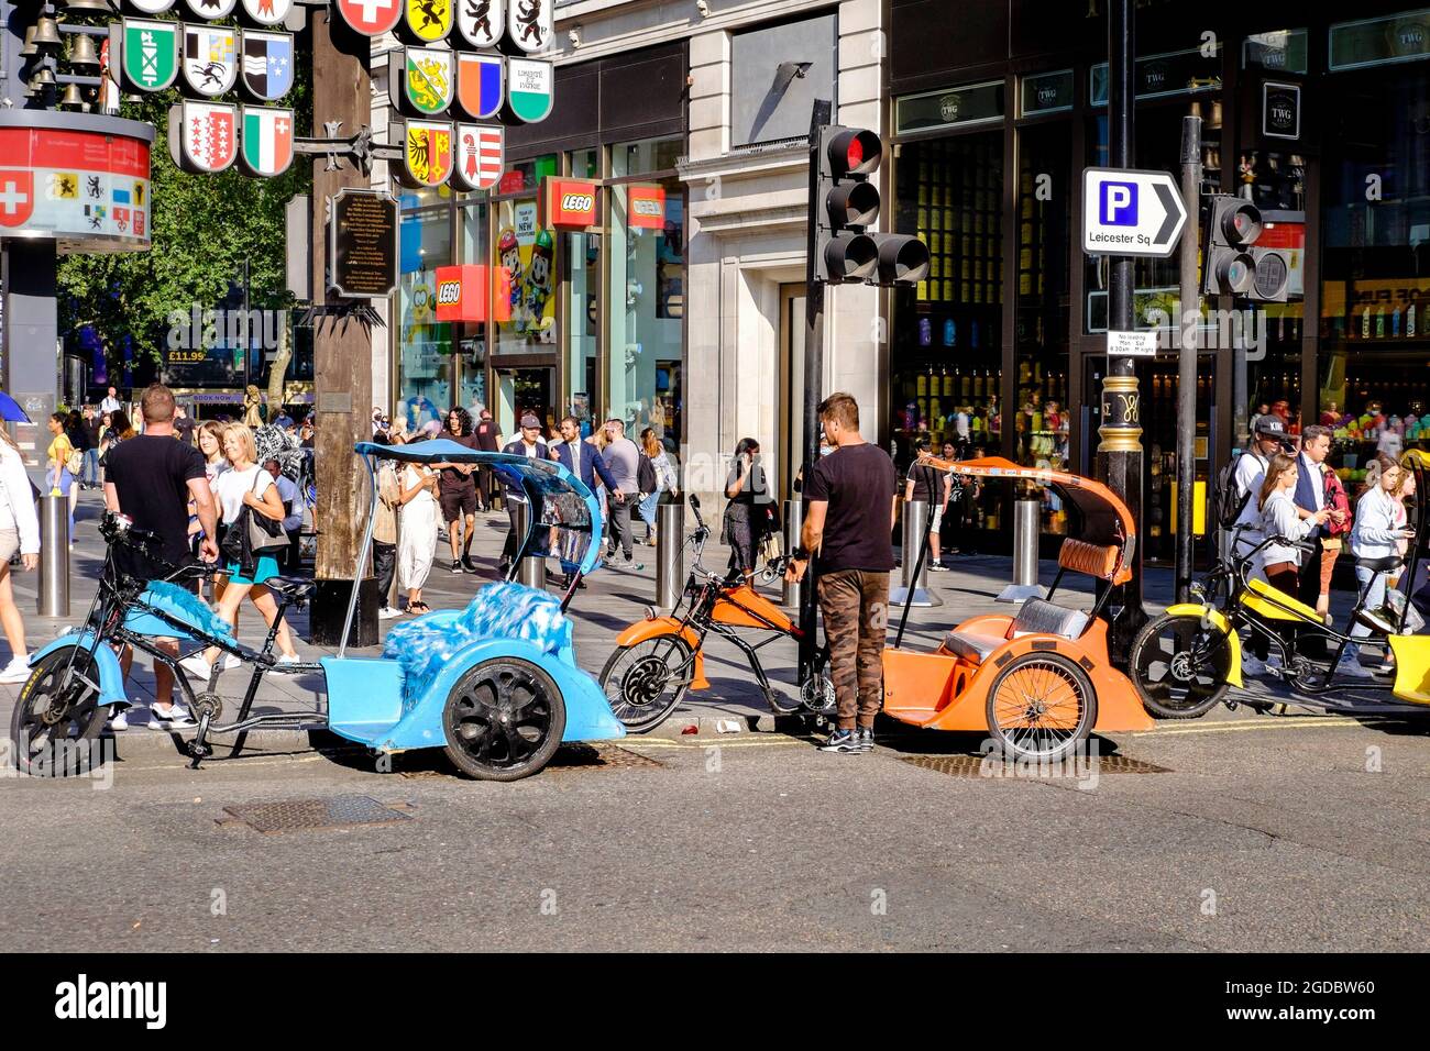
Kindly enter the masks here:
[[470, 668], [442, 708], [448, 758], [478, 781], [521, 781], [539, 772], [566, 731], [566, 704], [529, 661], [495, 658]]

